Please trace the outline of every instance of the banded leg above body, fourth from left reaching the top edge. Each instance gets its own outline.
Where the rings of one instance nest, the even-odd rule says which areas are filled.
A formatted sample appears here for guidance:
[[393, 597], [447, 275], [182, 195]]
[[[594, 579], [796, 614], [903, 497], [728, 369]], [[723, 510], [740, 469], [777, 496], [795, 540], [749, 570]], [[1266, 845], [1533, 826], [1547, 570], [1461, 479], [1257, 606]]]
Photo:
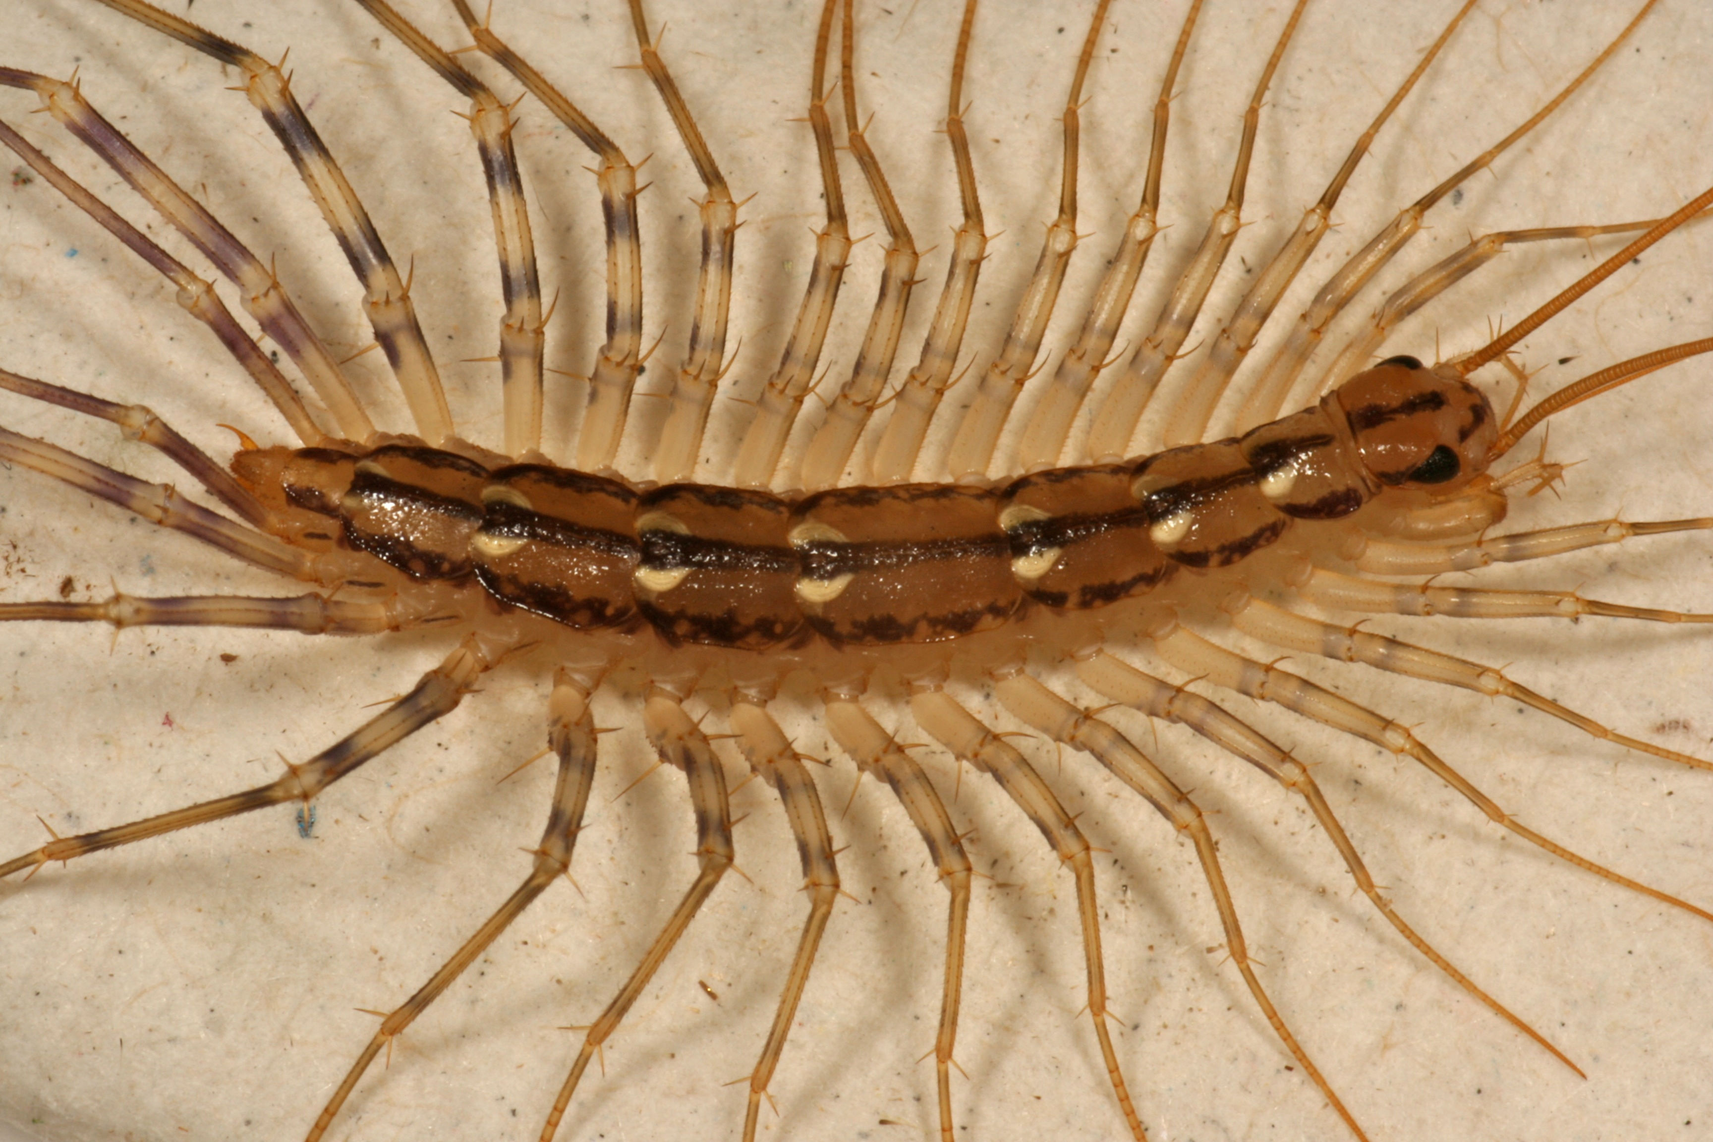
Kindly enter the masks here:
[[678, 94], [666, 62], [660, 58], [660, 45], [649, 39], [642, 0], [630, 0], [630, 26], [642, 53], [642, 70], [660, 92], [678, 139], [695, 163], [707, 193], [697, 207], [702, 216], [702, 264], [695, 271], [695, 313], [690, 317], [690, 344], [673, 382], [666, 402], [666, 423], [661, 425], [654, 449], [654, 479], [666, 485], [690, 479], [702, 450], [702, 428], [707, 409], [714, 402], [714, 387], [725, 373], [726, 324], [731, 315], [731, 248], [738, 233], [738, 204], [731, 200], [726, 176], [714, 163], [701, 128], [690, 116], [690, 108]]

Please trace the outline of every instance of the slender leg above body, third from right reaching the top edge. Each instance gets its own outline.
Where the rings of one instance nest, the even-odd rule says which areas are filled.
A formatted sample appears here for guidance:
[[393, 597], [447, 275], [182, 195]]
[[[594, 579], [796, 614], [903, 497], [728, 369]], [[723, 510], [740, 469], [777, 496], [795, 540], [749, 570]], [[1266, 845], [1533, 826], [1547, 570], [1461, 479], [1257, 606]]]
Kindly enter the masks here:
[[1095, 414], [1088, 454], [1096, 464], [1129, 455], [1131, 437], [1136, 435], [1136, 425], [1141, 421], [1148, 401], [1160, 387], [1160, 378], [1165, 377], [1172, 361], [1177, 360], [1179, 349], [1184, 348], [1184, 339], [1189, 337], [1191, 325], [1196, 324], [1196, 315], [1201, 313], [1208, 291], [1213, 289], [1213, 279], [1220, 276], [1225, 255], [1232, 252], [1232, 243], [1242, 228], [1249, 159], [1256, 149], [1256, 130], [1261, 127], [1261, 99], [1273, 82], [1273, 72], [1278, 70], [1292, 33], [1297, 31], [1304, 7], [1305, 0], [1297, 0], [1285, 22], [1285, 31], [1273, 45], [1268, 65], [1261, 70], [1256, 92], [1249, 99], [1249, 110], [1244, 111], [1244, 137], [1237, 144], [1237, 164], [1232, 168], [1232, 187], [1227, 192], [1225, 205], [1213, 212], [1208, 229], [1201, 236], [1201, 245], [1196, 248], [1196, 257], [1191, 259], [1165, 308], [1160, 310], [1153, 332], [1131, 354], [1124, 377], [1107, 392], [1107, 399], [1101, 401], [1100, 411]]

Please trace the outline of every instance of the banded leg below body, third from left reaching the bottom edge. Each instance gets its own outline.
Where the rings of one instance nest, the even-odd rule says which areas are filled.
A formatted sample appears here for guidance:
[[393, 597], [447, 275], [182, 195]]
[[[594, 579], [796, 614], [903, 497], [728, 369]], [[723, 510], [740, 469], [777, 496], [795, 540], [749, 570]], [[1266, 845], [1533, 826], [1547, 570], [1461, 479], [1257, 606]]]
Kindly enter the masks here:
[[803, 889], [809, 892], [809, 918], [797, 942], [791, 974], [786, 976], [779, 1008], [774, 1012], [767, 1043], [762, 1046], [755, 1070], [750, 1074], [749, 1106], [743, 1111], [743, 1142], [755, 1142], [755, 1118], [761, 1099], [785, 1051], [785, 1038], [791, 1032], [797, 1005], [809, 984], [809, 969], [815, 962], [821, 937], [833, 918], [833, 904], [839, 895], [839, 870], [833, 859], [833, 834], [827, 832], [827, 815], [821, 810], [821, 794], [809, 777], [791, 743], [778, 723], [762, 707], [766, 695], [740, 693], [731, 704], [731, 728], [750, 769], [779, 793], [785, 815], [791, 822], [791, 836], [803, 859]]

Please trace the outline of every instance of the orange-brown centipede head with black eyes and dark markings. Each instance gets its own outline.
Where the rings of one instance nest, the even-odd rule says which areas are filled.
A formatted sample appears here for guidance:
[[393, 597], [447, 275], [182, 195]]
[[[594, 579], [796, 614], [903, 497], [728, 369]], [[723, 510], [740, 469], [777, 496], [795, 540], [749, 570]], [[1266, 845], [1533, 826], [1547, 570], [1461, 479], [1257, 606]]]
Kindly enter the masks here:
[[1453, 370], [1394, 356], [1333, 394], [1357, 457], [1388, 488], [1454, 491], [1478, 476], [1499, 435], [1487, 397]]

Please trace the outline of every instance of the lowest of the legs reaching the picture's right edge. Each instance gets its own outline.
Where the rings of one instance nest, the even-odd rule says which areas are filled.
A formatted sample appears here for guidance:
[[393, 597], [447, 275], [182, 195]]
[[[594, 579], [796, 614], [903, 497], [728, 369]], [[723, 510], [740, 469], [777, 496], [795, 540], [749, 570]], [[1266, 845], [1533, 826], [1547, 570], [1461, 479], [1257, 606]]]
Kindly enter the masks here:
[[[1559, 859], [1574, 865], [1578, 868], [1586, 868], [1588, 871], [1595, 873], [1597, 877], [1603, 877], [1612, 883], [1622, 885], [1643, 895], [1651, 895], [1656, 901], [1662, 901], [1674, 907], [1680, 907], [1686, 913], [1701, 916], [1703, 919], [1713, 921], [1713, 914], [1696, 907], [1694, 904], [1687, 904], [1684, 901], [1679, 901], [1675, 895], [1667, 895], [1658, 889], [1650, 889], [1644, 883], [1638, 883], [1627, 877], [1620, 877], [1610, 868], [1597, 865], [1586, 856], [1573, 853], [1571, 849], [1566, 849], [1564, 846], [1555, 844], [1547, 837], [1540, 836], [1533, 829], [1518, 824], [1516, 820], [1511, 818], [1509, 813], [1501, 810], [1492, 798], [1489, 798], [1485, 793], [1475, 788], [1468, 779], [1463, 777], [1463, 774], [1459, 774], [1444, 760], [1441, 760], [1437, 753], [1429, 750], [1413, 733], [1410, 733], [1405, 726], [1400, 726], [1396, 721], [1391, 721], [1388, 717], [1382, 717], [1381, 714], [1376, 714], [1370, 709], [1357, 705], [1350, 699], [1333, 693], [1324, 687], [1317, 687], [1307, 678], [1302, 678], [1300, 675], [1293, 675], [1288, 669], [1280, 669], [1278, 666], [1268, 666], [1254, 659], [1242, 657], [1240, 654], [1227, 651], [1225, 647], [1208, 642], [1201, 635], [1196, 635], [1184, 628], [1173, 630], [1170, 635], [1156, 639], [1155, 645], [1160, 649], [1160, 656], [1165, 657], [1168, 663], [1172, 663], [1179, 669], [1187, 669], [1197, 675], [1199, 678], [1206, 678], [1216, 687], [1225, 687], [1227, 690], [1247, 695], [1250, 699], [1256, 699], [1257, 702], [1273, 702], [1276, 705], [1283, 705], [1285, 709], [1295, 714], [1302, 714], [1304, 717], [1309, 717], [1312, 721], [1317, 721], [1322, 726], [1331, 726], [1333, 729], [1340, 729], [1355, 738], [1362, 738], [1364, 741], [1372, 741], [1374, 745], [1398, 757], [1410, 757], [1420, 762], [1429, 772], [1444, 781], [1454, 791], [1458, 791], [1466, 801], [1470, 801], [1470, 805], [1487, 813], [1490, 820], [1494, 820], [1499, 825], [1504, 825], [1506, 829], [1523, 837], [1530, 844], [1540, 848], [1542, 851], [1550, 853], [1552, 856], [1557, 856]], [[1459, 979], [1459, 983], [1463, 981]], [[1516, 1017], [1511, 1015], [1511, 1012], [1504, 1010], [1502, 1007], [1497, 1007], [1480, 991], [1475, 991], [1473, 995], [1489, 1007], [1492, 1007], [1497, 1014], [1504, 1015], [1513, 1024], [1516, 1024], [1525, 1034], [1528, 1034], [1535, 1041], [1540, 1041], [1540, 1036], [1537, 1036], [1526, 1026], [1519, 1024]], [[1547, 1046], [1549, 1051], [1552, 1050], [1550, 1044], [1545, 1043], [1542, 1044]], [[1557, 1051], [1552, 1053], [1557, 1055]], [[1562, 1060], [1564, 1056], [1559, 1055], [1559, 1058]]]

